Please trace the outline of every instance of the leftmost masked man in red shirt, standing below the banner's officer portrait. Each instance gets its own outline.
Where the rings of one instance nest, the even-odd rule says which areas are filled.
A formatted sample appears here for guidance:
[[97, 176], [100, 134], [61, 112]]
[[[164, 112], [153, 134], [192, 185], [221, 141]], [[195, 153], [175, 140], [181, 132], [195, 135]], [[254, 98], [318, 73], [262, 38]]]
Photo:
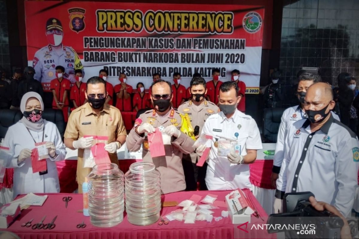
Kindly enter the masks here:
[[69, 119], [69, 98], [67, 97], [70, 91], [70, 81], [62, 77], [65, 72], [63, 66], [56, 66], [56, 78], [50, 82], [50, 89], [52, 91], [52, 109], [62, 110], [65, 122]]

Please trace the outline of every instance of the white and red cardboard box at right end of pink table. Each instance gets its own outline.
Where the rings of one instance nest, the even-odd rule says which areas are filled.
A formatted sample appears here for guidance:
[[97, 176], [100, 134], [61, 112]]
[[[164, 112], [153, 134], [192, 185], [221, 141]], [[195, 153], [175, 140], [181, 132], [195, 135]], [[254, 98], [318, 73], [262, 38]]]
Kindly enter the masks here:
[[241, 189], [230, 192], [225, 196], [228, 213], [233, 224], [251, 223], [254, 210], [249, 206], [247, 197]]

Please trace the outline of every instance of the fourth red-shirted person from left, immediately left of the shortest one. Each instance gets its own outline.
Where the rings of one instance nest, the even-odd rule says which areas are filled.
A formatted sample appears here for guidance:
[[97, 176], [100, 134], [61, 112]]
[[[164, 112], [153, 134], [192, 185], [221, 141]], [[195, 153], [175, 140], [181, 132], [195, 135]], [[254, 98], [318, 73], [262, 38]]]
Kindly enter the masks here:
[[[120, 73], [118, 80], [120, 80], [121, 83], [115, 86], [115, 93], [117, 97], [116, 108], [121, 111], [121, 114], [123, 112], [132, 112], [132, 86], [126, 84], [127, 76], [125, 73]], [[132, 116], [122, 114], [122, 119], [126, 130], [131, 130], [133, 127]]]

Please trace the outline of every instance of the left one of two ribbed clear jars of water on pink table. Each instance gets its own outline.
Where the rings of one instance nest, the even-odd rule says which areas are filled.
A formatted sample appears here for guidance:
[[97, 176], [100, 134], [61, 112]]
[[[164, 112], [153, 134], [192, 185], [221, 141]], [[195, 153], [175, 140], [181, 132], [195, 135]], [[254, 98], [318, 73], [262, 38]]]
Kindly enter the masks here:
[[88, 175], [89, 214], [92, 225], [109, 228], [122, 222], [123, 172], [115, 163], [101, 163]]

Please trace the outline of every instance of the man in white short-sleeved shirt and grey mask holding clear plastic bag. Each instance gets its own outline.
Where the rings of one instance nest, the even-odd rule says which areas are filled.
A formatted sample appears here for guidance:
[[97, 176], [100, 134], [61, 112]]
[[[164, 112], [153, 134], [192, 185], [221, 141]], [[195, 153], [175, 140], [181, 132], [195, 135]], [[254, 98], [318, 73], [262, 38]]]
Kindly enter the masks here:
[[[236, 82], [224, 82], [219, 90], [220, 113], [208, 117], [201, 135], [210, 135], [211, 149], [207, 159], [206, 185], [208, 190], [252, 188], [249, 165], [262, 149], [255, 120], [237, 110], [241, 101]], [[206, 145], [197, 147], [202, 155]]]

